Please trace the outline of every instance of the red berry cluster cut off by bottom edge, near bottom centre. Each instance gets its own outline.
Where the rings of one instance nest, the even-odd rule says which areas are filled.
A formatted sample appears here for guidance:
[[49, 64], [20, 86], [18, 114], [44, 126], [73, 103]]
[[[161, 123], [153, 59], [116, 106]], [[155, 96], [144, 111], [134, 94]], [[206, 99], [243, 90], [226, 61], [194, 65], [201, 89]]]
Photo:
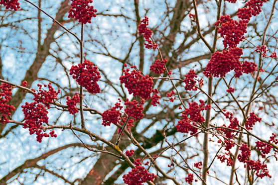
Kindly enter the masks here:
[[157, 176], [149, 173], [147, 169], [142, 167], [140, 159], [135, 160], [134, 164], [135, 168], [123, 176], [124, 183], [128, 185], [143, 185], [143, 183], [147, 181], [153, 182], [153, 180], [157, 178]]

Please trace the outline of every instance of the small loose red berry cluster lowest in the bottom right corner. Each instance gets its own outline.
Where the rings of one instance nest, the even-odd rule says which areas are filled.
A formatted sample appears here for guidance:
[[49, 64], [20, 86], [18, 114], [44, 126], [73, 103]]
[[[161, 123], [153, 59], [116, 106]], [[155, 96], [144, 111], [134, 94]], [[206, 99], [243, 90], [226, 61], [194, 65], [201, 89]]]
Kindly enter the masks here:
[[247, 161], [246, 164], [247, 164], [248, 170], [256, 171], [257, 177], [259, 177], [261, 179], [263, 179], [264, 177], [271, 178], [271, 175], [269, 174], [269, 171], [268, 171], [268, 165], [262, 164], [260, 160], [258, 162], [250, 160], [250, 161]]

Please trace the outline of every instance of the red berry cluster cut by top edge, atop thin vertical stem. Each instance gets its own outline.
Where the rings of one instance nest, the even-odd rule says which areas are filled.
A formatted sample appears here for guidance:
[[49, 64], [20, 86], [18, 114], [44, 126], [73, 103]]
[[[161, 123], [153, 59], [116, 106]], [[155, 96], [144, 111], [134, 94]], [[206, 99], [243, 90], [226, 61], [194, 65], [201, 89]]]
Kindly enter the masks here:
[[96, 17], [97, 10], [94, 6], [89, 5], [93, 0], [71, 0], [71, 8], [69, 10], [68, 18], [75, 18], [78, 22], [83, 24], [92, 23], [92, 17]]

